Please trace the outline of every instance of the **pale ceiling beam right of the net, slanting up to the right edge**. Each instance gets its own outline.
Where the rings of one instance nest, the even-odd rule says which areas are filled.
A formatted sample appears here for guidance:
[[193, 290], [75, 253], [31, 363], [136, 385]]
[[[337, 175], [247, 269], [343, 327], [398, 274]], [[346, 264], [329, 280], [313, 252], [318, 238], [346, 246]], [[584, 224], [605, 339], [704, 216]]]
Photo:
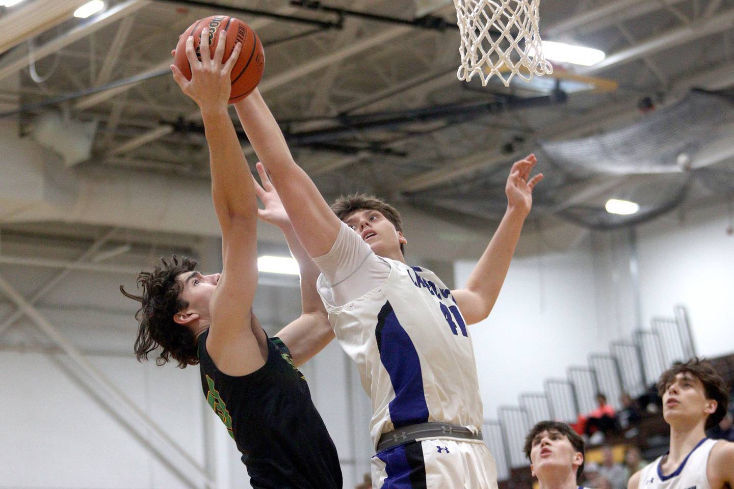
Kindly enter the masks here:
[[707, 36], [708, 34], [731, 29], [733, 21], [734, 9], [722, 12], [715, 17], [701, 18], [697, 21], [691, 22], [687, 26], [672, 29], [664, 34], [655, 35], [652, 39], [633, 45], [630, 48], [622, 49], [622, 51], [617, 51], [617, 53], [606, 56], [602, 62], [599, 62], [594, 66], [580, 68], [576, 71], [577, 73], [582, 73], [584, 75], [597, 73], [602, 70], [606, 70], [609, 67], [622, 65], [624, 63], [634, 61], [635, 59], [642, 58], [647, 54], [653, 54], [657, 51], [670, 49], [677, 45], [686, 43], [687, 41]]

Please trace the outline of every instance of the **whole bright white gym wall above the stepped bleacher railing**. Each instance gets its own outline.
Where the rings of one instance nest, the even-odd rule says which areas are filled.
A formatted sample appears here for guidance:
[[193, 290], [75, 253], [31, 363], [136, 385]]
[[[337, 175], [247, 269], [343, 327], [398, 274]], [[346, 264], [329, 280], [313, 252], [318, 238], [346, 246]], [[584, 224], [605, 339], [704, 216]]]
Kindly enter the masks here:
[[[734, 352], [732, 225], [727, 207], [719, 205], [637, 227], [644, 328], [683, 304], [700, 355]], [[521, 245], [552, 240], [546, 233], [526, 228]], [[499, 405], [517, 405], [522, 392], [542, 391], [545, 378], [564, 377], [566, 367], [608, 352], [609, 342], [636, 329], [628, 230], [590, 232], [580, 242], [567, 251], [537, 246], [534, 254], [515, 257], [492, 314], [471, 326], [485, 418], [495, 418]], [[457, 287], [475, 263], [456, 262]]]

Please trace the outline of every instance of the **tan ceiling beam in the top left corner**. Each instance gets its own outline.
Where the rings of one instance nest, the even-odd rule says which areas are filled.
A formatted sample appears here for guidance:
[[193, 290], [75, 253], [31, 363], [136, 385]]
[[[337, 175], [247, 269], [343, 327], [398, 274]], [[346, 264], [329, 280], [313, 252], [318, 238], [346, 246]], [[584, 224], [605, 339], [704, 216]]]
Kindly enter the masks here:
[[10, 10], [0, 18], [0, 54], [68, 21], [85, 3], [87, 0], [35, 1]]

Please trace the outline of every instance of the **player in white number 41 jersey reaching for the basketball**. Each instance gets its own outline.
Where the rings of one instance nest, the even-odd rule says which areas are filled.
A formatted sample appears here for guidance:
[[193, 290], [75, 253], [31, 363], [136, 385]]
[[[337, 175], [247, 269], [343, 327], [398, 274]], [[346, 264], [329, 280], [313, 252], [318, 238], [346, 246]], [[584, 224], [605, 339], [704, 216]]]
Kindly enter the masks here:
[[330, 323], [371, 397], [374, 488], [496, 488], [466, 325], [489, 315], [504, 282], [542, 179], [530, 177], [534, 155], [512, 166], [506, 214], [467, 286], [448, 290], [431, 271], [405, 263], [393, 207], [357, 195], [338, 202], [335, 214], [294, 162], [257, 90], [236, 110], [321, 270]]

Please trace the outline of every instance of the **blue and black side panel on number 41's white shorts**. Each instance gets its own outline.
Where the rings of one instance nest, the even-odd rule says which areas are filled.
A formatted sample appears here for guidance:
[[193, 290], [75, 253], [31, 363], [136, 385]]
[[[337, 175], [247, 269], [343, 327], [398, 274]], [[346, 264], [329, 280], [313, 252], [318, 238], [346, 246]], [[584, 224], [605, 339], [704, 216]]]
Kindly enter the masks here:
[[426, 464], [421, 442], [395, 446], [377, 454], [388, 477], [380, 489], [426, 489]]

